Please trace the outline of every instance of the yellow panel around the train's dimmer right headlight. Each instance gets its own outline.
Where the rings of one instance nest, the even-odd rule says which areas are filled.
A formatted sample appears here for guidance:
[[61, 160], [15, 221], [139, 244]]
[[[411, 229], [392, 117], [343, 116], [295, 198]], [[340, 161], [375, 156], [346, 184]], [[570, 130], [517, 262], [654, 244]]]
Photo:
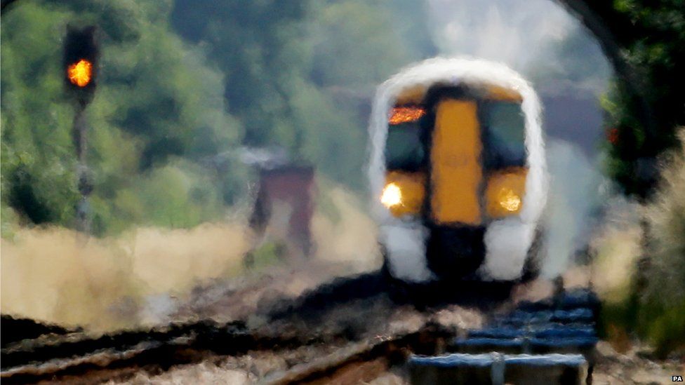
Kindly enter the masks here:
[[526, 175], [527, 168], [513, 167], [488, 177], [485, 196], [489, 217], [501, 218], [521, 211], [526, 194]]

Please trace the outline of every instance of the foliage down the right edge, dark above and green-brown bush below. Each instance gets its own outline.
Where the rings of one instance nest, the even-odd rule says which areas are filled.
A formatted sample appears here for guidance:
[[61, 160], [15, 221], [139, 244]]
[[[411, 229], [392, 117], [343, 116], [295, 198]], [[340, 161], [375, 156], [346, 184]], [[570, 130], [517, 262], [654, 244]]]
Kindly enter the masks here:
[[[685, 4], [619, 0], [613, 8], [629, 21], [619, 43], [637, 83], [616, 79], [603, 101], [613, 136], [608, 172], [625, 193], [646, 203], [639, 275], [613, 318], [651, 340], [665, 356], [685, 348], [685, 164], [682, 148], [667, 151], [677, 146], [676, 127], [685, 124], [685, 77], [679, 64], [685, 62]], [[658, 168], [665, 154], [670, 161]]]

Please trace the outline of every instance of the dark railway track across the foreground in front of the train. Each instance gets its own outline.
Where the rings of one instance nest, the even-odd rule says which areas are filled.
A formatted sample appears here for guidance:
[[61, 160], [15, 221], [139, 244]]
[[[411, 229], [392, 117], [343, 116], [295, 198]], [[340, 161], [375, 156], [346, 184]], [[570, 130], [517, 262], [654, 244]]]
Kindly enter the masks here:
[[[294, 351], [308, 357], [258, 381], [355, 383], [394, 370], [416, 384], [526, 383], [526, 373], [539, 376], [547, 368], [550, 383], [576, 384], [592, 374], [597, 301], [587, 290], [509, 309], [493, 292], [480, 299], [436, 295], [417, 307], [392, 300], [389, 290], [379, 273], [338, 278], [264, 311], [259, 327], [202, 320], [100, 337], [53, 330], [4, 345], [0, 378], [6, 384], [126, 381], [140, 372]], [[468, 311], [482, 316], [455, 327], [441, 322], [446, 309], [461, 318]]]

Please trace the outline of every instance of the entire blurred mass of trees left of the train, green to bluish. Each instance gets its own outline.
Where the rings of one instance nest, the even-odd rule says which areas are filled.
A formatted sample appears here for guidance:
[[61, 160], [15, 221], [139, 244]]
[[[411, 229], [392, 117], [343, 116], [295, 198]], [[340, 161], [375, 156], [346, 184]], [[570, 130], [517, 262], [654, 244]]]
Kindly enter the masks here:
[[[97, 25], [88, 106], [93, 229], [219, 219], [249, 170], [234, 149], [279, 145], [361, 189], [375, 84], [432, 49], [411, 1], [26, 0], [3, 15], [2, 217], [72, 226], [67, 23]], [[417, 32], [418, 31], [418, 32]], [[177, 35], [180, 35], [178, 36]]]

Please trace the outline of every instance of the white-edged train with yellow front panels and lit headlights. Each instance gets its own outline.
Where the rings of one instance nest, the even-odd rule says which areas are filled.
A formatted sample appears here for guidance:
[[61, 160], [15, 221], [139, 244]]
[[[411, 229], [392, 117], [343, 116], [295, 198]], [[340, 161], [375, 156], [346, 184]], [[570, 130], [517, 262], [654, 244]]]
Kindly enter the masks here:
[[498, 62], [432, 58], [382, 83], [371, 109], [383, 271], [407, 283], [535, 276], [549, 177], [531, 84]]

